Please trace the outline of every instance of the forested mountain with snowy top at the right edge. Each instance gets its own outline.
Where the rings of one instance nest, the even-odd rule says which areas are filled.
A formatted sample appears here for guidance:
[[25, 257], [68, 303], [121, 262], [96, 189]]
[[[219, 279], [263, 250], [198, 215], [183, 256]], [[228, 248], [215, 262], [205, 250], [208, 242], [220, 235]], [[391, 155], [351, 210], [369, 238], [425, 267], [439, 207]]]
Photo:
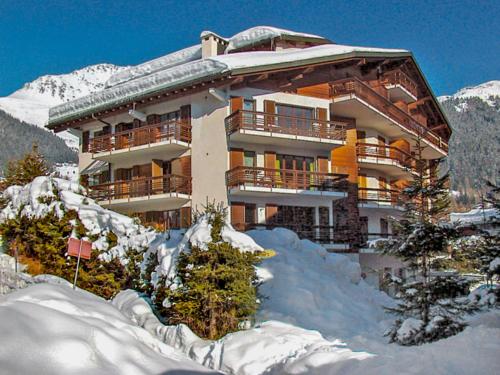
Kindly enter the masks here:
[[450, 121], [449, 166], [457, 202], [470, 208], [485, 192], [486, 180], [500, 181], [500, 80], [464, 87], [438, 98]]

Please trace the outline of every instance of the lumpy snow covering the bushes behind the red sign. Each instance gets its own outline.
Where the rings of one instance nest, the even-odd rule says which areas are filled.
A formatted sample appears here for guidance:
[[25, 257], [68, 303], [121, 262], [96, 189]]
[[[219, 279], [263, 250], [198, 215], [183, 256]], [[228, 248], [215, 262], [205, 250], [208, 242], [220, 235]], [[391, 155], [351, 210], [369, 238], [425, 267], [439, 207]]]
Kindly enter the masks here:
[[[8, 204], [0, 211], [0, 222], [18, 215], [43, 218], [50, 212], [61, 218], [68, 210], [75, 210], [88, 235], [97, 236], [93, 248], [101, 251], [101, 259], [106, 261], [122, 258], [129, 248], [146, 249], [159, 236], [128, 216], [102, 208], [83, 194], [84, 188], [78, 183], [53, 177], [37, 177], [25, 186], [10, 186], [3, 193]], [[110, 232], [117, 236], [117, 244], [112, 248], [108, 248]]]

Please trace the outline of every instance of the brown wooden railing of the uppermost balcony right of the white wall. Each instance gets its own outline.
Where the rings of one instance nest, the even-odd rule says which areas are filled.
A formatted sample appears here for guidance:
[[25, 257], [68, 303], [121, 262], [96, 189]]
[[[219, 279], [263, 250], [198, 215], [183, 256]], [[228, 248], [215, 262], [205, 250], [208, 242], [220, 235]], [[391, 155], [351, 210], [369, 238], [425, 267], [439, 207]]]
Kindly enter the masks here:
[[345, 141], [347, 125], [340, 120], [326, 121], [245, 110], [237, 110], [226, 118], [228, 135], [243, 129]]

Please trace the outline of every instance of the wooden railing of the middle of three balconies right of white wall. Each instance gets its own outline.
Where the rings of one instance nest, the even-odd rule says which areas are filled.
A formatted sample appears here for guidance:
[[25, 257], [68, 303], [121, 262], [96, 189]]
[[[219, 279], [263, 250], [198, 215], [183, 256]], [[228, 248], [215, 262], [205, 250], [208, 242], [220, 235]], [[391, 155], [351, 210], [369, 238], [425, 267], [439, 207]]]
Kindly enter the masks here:
[[236, 167], [226, 172], [228, 187], [241, 185], [315, 191], [346, 191], [347, 175], [291, 169]]

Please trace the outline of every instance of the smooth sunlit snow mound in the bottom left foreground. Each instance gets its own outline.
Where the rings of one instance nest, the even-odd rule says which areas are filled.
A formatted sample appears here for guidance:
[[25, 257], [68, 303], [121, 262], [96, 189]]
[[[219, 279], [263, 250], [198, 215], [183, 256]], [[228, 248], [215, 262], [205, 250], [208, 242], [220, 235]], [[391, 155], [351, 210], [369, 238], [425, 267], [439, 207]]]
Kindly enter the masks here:
[[0, 297], [0, 374], [204, 374], [113, 305], [68, 286]]

